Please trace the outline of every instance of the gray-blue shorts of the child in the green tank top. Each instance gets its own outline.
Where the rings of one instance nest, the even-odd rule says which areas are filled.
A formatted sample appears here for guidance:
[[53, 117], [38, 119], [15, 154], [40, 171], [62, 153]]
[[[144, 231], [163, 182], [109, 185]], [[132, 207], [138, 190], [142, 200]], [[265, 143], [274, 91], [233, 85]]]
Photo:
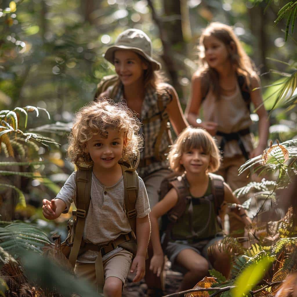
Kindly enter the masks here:
[[176, 264], [176, 257], [183, 249], [192, 249], [199, 255], [203, 256], [207, 262], [209, 269], [212, 268], [211, 263], [209, 262], [207, 249], [211, 245], [215, 244], [217, 241], [220, 241], [224, 238], [224, 236], [218, 235], [214, 238], [198, 241], [195, 244], [189, 244], [186, 240], [178, 240], [175, 242], [168, 242], [168, 245], [165, 249], [165, 254], [171, 262], [171, 267], [173, 270], [178, 270], [181, 272], [185, 272], [184, 269]]

